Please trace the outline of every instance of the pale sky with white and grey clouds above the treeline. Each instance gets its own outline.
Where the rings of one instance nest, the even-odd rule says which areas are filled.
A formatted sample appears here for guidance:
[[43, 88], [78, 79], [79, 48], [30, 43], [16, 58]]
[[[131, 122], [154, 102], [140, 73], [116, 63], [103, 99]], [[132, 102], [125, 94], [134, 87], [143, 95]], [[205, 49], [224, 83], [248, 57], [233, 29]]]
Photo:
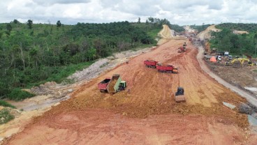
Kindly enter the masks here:
[[138, 17], [179, 25], [257, 23], [257, 0], [0, 0], [0, 23], [138, 22]]

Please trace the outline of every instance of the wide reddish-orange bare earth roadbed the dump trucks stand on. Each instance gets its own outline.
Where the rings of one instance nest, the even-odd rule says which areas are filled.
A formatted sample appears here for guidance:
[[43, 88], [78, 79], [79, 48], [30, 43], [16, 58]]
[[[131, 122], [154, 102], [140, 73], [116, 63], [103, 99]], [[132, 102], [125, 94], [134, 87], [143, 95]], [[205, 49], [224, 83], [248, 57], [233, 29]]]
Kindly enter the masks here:
[[[185, 41], [187, 51], [177, 53]], [[4, 144], [255, 144], [247, 116], [222, 104], [246, 100], [206, 74], [197, 54], [189, 41], [169, 40], [83, 84]], [[146, 59], [179, 73], [146, 68]], [[126, 91], [98, 91], [98, 82], [114, 74], [126, 80]], [[175, 102], [177, 86], [184, 87], [186, 103]]]

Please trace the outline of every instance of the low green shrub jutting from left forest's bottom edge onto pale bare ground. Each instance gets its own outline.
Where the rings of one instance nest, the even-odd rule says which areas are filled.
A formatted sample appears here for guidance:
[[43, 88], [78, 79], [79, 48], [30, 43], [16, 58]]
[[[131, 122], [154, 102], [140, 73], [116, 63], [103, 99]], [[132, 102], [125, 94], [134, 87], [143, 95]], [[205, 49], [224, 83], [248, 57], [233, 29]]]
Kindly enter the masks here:
[[8, 95], [8, 98], [10, 100], [24, 100], [26, 98], [31, 98], [33, 96], [35, 96], [35, 94], [15, 88], [10, 92], [10, 94]]

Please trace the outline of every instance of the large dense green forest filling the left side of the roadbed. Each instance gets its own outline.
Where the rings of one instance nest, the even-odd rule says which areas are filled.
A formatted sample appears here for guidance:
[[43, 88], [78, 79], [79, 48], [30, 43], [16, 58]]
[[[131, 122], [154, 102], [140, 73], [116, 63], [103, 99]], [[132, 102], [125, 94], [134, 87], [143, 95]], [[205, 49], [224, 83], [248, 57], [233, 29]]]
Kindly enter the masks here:
[[[78, 23], [64, 25], [0, 24], [0, 97], [21, 100], [21, 91], [47, 81], [63, 82], [94, 60], [137, 47], [156, 45], [156, 34], [168, 20], [147, 22]], [[177, 25], [176, 25], [177, 26]], [[177, 29], [181, 29], [177, 26]]]

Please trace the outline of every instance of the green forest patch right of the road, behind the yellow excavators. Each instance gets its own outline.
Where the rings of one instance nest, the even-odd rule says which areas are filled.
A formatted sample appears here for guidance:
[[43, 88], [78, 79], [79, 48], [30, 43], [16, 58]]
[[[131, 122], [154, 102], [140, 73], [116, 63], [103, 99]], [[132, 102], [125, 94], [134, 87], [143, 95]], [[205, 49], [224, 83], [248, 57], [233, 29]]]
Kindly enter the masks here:
[[[216, 25], [221, 32], [212, 32], [211, 48], [219, 51], [228, 51], [230, 54], [242, 56], [248, 54], [256, 57], [257, 24], [224, 23]], [[249, 34], [236, 34], [233, 30], [248, 31]]]

